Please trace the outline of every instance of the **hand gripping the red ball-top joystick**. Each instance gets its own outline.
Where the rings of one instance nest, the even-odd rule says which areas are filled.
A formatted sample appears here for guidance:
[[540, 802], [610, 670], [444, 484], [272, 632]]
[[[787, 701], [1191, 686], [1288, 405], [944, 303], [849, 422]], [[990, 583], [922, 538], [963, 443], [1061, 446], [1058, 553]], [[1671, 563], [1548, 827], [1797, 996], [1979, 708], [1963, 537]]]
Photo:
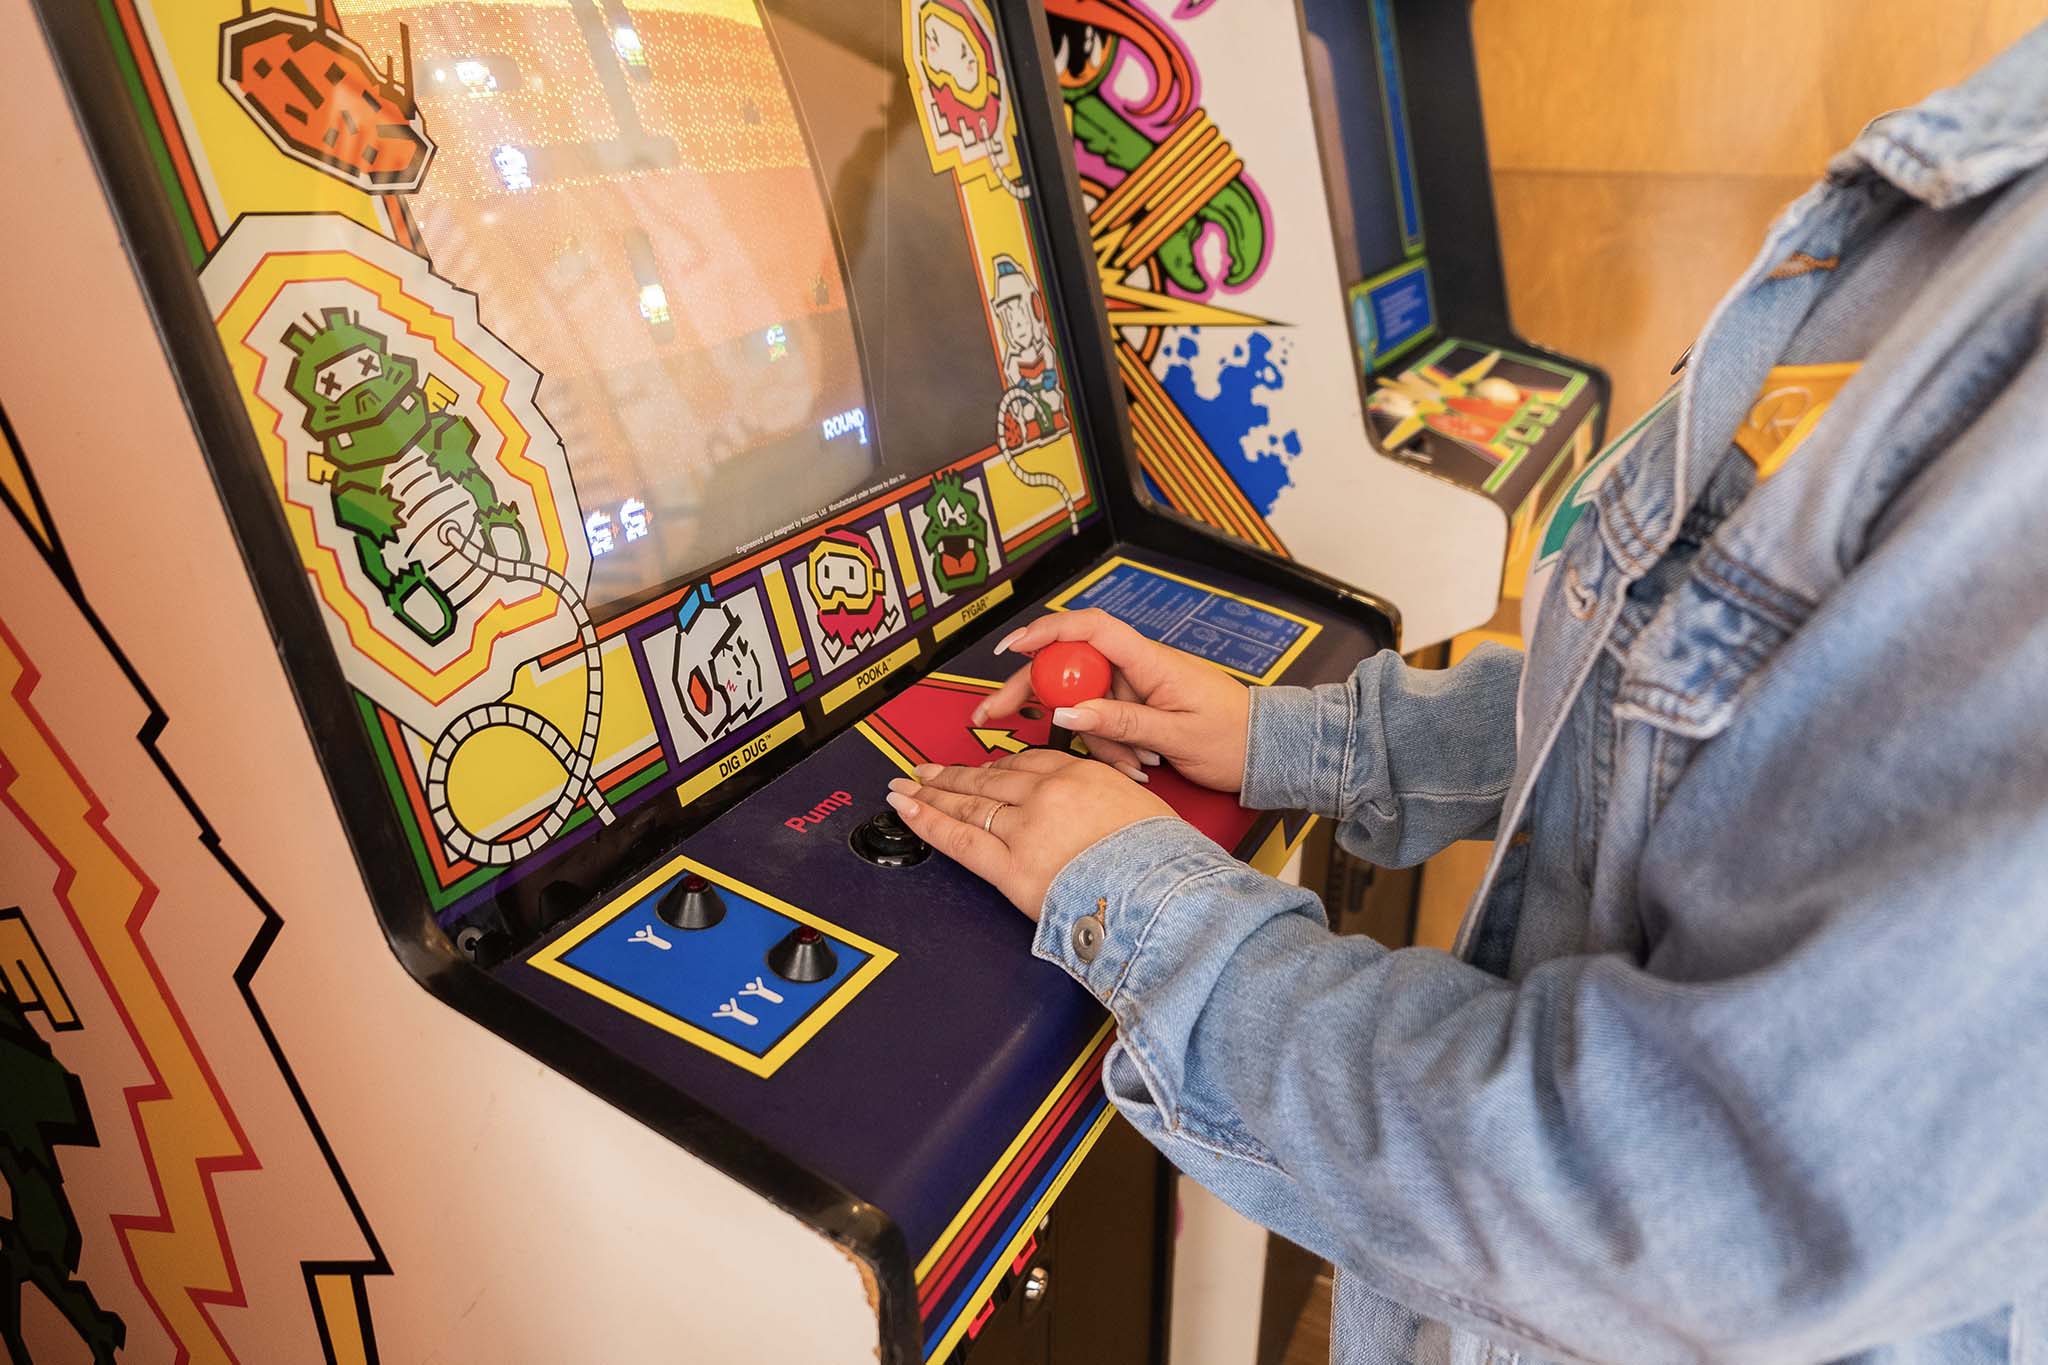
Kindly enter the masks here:
[[[1110, 696], [1053, 712], [1053, 724], [1087, 737], [1090, 755], [1126, 772], [1165, 759], [1206, 788], [1235, 792], [1243, 786], [1249, 688], [1096, 608], [1040, 616], [1004, 636], [995, 653], [1034, 655], [1053, 641], [1087, 641], [1114, 669]], [[1014, 714], [1030, 696], [1026, 665], [975, 708], [975, 724]]]

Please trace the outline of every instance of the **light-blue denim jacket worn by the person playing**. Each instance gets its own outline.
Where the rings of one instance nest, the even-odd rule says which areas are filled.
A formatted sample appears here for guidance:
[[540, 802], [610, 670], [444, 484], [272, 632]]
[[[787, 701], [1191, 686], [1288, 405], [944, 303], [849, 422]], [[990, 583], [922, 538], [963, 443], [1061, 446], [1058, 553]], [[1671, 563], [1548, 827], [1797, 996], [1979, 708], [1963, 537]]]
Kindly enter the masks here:
[[1171, 819], [1055, 880], [1110, 1097], [1339, 1267], [1335, 1359], [2048, 1361], [2044, 162], [2048, 27], [1772, 225], [1569, 495], [1526, 661], [1253, 692], [1247, 804], [1499, 835], [1454, 954]]

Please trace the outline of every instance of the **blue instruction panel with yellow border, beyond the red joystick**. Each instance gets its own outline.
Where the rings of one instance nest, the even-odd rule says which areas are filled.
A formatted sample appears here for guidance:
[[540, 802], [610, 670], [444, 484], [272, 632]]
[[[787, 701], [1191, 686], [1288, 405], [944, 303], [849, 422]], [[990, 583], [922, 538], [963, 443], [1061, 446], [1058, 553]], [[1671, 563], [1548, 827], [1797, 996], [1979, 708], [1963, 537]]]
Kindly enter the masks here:
[[1079, 612], [1102, 608], [1139, 634], [1270, 681], [1313, 622], [1147, 569], [1112, 561], [1094, 581], [1059, 600]]

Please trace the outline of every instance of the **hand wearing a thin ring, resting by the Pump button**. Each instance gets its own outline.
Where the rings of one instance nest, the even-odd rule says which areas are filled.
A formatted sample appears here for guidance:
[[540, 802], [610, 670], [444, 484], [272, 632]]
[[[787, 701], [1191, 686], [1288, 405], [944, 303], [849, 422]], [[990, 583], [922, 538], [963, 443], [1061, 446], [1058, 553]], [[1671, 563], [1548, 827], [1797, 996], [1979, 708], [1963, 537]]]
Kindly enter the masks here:
[[1106, 763], [1051, 749], [985, 767], [926, 763], [889, 784], [889, 804], [934, 849], [985, 878], [1032, 919], [1053, 878], [1087, 845], [1174, 808]]

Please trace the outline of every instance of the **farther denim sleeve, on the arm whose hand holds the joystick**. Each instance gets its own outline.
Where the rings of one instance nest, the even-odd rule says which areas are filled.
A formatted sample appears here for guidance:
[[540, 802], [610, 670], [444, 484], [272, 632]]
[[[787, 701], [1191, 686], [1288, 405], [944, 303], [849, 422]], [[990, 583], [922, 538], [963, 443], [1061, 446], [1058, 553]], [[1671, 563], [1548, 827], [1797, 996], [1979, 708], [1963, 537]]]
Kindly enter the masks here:
[[1382, 868], [1487, 839], [1513, 778], [1520, 677], [1518, 651], [1481, 645], [1452, 669], [1389, 649], [1341, 684], [1253, 688], [1243, 802], [1327, 814]]

